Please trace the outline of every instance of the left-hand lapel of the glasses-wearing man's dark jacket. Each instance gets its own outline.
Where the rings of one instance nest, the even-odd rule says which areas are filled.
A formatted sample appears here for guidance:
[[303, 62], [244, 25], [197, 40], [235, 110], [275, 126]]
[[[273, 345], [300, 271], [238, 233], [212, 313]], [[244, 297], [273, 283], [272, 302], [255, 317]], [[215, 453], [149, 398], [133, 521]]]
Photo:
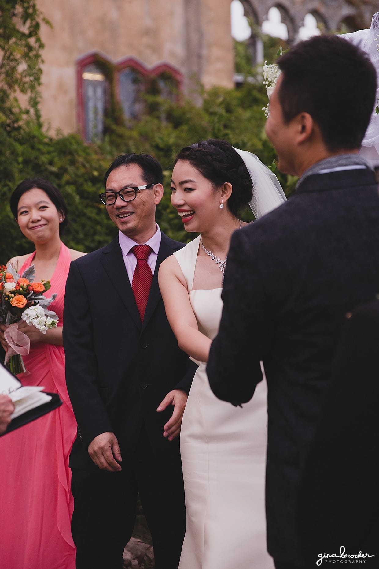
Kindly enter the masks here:
[[[129, 277], [125, 268], [122, 250], [118, 238], [112, 241], [104, 250], [100, 259], [115, 290], [118, 292], [125, 308], [130, 313], [138, 329], [141, 329], [141, 319], [134, 298]], [[154, 275], [155, 276], [155, 275]]]

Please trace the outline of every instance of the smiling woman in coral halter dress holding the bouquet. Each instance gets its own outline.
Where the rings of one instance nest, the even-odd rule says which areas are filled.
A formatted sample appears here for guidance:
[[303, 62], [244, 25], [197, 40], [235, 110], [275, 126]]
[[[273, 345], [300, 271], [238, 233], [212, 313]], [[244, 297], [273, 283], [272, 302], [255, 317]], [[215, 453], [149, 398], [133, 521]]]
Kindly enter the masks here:
[[[49, 309], [59, 317], [58, 327], [45, 335], [22, 322], [30, 338], [23, 356], [23, 385], [40, 385], [59, 393], [58, 409], [2, 436], [0, 439], [0, 567], [2, 569], [74, 569], [75, 546], [70, 521], [69, 453], [76, 437], [76, 420], [65, 385], [62, 342], [65, 283], [70, 262], [82, 255], [60, 240], [66, 206], [59, 191], [45, 180], [24, 180], [13, 192], [11, 209], [20, 230], [34, 242], [35, 251], [11, 259], [22, 274], [35, 266], [35, 282], [51, 281], [46, 295], [56, 293]], [[0, 326], [5, 349], [5, 327]]]

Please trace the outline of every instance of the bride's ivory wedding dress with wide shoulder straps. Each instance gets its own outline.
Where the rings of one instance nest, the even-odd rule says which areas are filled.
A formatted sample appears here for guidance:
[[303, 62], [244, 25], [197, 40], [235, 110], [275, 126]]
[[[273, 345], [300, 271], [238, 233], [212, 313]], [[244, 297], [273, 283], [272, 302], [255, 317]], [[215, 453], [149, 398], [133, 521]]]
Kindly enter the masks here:
[[[213, 339], [221, 318], [222, 288], [193, 290], [199, 242], [200, 236], [174, 255], [199, 330]], [[186, 534], [179, 569], [274, 567], [266, 552], [266, 395], [264, 379], [242, 409], [220, 401], [210, 389], [206, 364], [199, 364], [180, 435]]]

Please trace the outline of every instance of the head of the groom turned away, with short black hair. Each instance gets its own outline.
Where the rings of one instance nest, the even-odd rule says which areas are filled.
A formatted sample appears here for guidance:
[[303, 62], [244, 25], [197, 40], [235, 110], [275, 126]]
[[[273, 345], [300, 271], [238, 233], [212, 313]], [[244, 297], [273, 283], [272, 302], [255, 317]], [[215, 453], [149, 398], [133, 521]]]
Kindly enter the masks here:
[[301, 175], [315, 162], [360, 149], [376, 101], [368, 56], [338, 36], [314, 36], [280, 56], [266, 133], [278, 167]]

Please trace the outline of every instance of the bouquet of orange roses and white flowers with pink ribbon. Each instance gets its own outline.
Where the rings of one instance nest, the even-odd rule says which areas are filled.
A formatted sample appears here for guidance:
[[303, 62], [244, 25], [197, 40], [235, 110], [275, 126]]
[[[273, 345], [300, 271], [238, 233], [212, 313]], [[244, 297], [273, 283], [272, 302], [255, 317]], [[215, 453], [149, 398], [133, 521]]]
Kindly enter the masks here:
[[47, 298], [43, 293], [50, 288], [50, 281], [34, 282], [34, 265], [20, 276], [8, 263], [0, 265], [0, 323], [6, 324], [4, 337], [9, 344], [5, 356], [7, 368], [14, 374], [26, 372], [22, 356], [29, 353], [30, 340], [18, 329], [20, 320], [35, 326], [43, 334], [56, 328], [58, 316], [48, 310], [56, 294]]

